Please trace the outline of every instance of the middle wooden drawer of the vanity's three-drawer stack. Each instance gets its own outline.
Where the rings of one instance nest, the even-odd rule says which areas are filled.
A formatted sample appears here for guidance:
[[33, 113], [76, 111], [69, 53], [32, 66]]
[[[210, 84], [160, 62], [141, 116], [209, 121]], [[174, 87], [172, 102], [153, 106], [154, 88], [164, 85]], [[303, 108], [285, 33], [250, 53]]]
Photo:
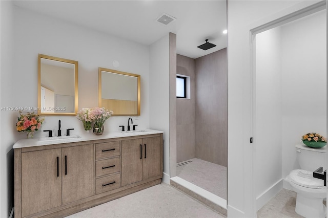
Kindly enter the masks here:
[[120, 161], [119, 157], [96, 161], [96, 177], [104, 176], [106, 174], [119, 172]]

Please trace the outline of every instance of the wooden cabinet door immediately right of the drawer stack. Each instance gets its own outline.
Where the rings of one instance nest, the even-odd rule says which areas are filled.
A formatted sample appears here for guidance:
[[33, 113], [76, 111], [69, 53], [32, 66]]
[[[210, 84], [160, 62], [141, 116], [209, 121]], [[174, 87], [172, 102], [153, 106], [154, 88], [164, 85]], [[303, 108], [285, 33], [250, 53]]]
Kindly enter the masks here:
[[142, 139], [122, 141], [122, 186], [142, 180]]

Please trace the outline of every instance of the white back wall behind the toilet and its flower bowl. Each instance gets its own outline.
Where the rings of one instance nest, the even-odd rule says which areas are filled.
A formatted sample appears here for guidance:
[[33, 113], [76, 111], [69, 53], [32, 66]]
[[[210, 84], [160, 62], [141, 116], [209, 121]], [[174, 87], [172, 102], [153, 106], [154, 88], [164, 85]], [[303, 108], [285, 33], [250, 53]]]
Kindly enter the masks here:
[[[326, 11], [281, 27], [282, 177], [299, 168], [295, 145], [326, 137]], [[319, 167], [319, 166], [318, 166]]]

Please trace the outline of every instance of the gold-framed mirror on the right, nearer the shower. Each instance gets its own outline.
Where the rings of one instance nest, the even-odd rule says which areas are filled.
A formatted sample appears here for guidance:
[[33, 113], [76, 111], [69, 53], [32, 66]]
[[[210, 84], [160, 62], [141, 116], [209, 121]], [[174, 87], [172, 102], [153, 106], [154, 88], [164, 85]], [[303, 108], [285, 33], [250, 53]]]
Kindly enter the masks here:
[[139, 116], [140, 75], [98, 68], [98, 106], [115, 116]]

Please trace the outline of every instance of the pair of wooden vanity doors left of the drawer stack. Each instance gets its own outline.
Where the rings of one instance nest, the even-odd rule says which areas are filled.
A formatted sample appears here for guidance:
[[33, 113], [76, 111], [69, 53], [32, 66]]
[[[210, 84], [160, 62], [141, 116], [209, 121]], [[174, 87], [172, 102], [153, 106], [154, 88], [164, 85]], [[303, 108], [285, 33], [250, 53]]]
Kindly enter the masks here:
[[93, 145], [22, 152], [22, 216], [94, 194]]

